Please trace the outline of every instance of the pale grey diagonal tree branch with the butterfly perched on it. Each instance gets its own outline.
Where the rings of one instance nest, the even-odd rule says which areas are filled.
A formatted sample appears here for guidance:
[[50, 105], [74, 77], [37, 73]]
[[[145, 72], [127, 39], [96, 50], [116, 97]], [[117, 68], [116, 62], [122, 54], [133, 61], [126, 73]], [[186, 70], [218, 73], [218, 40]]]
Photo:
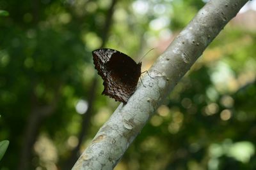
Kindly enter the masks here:
[[248, 0], [212, 0], [198, 11], [143, 77], [143, 85], [120, 104], [73, 169], [113, 169], [157, 107], [196, 59]]

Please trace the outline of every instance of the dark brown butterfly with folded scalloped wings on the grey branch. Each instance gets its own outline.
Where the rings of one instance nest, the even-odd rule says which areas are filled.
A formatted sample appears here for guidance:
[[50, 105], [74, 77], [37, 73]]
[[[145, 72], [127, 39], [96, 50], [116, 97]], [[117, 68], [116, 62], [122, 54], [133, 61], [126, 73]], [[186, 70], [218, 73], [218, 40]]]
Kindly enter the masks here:
[[93, 63], [104, 80], [102, 94], [127, 103], [136, 90], [141, 75], [141, 62], [136, 64], [128, 55], [102, 48], [92, 52]]

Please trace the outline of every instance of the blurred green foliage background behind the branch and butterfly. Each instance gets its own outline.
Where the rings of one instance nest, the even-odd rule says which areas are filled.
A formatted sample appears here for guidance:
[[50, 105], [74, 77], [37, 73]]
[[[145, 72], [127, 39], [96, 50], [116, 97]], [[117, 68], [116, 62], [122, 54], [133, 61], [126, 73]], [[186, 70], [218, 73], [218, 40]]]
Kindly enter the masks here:
[[[0, 0], [1, 170], [71, 169], [119, 103], [101, 96], [92, 50], [142, 71], [202, 0]], [[246, 4], [158, 108], [120, 169], [256, 169], [256, 1]]]

